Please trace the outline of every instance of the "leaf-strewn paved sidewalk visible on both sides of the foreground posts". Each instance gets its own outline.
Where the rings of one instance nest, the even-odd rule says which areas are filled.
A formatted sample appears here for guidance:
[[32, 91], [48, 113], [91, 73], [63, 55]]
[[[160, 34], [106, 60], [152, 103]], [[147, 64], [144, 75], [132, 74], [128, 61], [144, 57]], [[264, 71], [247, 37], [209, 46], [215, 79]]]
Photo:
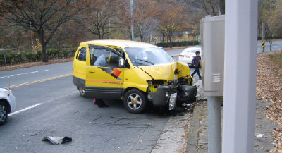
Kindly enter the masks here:
[[[194, 112], [190, 120], [188, 132], [187, 153], [208, 152], [208, 121], [207, 121], [207, 101], [202, 91], [202, 80], [198, 80], [195, 85], [198, 87], [199, 98], [195, 104]], [[276, 128], [276, 124], [266, 119], [264, 112], [266, 106], [271, 102], [257, 99], [257, 113], [255, 120], [255, 142], [254, 152], [269, 152], [275, 147], [275, 143], [269, 132]], [[222, 111], [222, 109], [221, 109]], [[221, 113], [222, 115], [222, 113]], [[222, 121], [222, 120], [221, 120]]]

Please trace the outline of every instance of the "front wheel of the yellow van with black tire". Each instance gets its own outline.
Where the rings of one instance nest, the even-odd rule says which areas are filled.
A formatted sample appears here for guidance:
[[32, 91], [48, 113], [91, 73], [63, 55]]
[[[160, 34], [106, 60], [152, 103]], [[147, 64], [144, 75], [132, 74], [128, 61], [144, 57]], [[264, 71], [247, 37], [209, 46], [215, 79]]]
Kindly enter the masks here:
[[140, 114], [145, 111], [148, 100], [140, 90], [129, 90], [125, 93], [123, 104], [130, 113]]

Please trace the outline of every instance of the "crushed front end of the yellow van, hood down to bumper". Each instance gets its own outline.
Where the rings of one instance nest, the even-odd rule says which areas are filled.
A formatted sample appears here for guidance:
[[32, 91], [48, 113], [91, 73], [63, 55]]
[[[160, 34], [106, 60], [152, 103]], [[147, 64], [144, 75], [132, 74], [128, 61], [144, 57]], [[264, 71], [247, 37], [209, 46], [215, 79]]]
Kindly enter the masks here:
[[193, 79], [186, 63], [174, 62], [140, 68], [153, 78], [147, 80], [147, 93], [154, 106], [168, 106], [172, 110], [176, 103], [195, 102], [197, 87], [192, 85]]

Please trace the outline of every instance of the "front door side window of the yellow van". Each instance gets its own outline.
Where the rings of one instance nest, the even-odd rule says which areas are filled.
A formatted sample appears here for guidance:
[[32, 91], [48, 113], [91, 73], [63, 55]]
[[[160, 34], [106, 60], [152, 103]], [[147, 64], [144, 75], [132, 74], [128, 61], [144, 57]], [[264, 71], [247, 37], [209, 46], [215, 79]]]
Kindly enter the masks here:
[[118, 67], [120, 56], [108, 49], [89, 49], [91, 66]]

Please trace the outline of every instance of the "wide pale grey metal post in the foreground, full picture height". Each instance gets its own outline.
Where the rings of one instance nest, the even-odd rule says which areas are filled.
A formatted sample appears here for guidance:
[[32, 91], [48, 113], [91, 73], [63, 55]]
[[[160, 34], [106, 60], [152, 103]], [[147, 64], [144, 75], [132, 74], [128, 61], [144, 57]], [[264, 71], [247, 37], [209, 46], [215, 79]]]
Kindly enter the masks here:
[[226, 1], [223, 153], [254, 152], [257, 0]]

